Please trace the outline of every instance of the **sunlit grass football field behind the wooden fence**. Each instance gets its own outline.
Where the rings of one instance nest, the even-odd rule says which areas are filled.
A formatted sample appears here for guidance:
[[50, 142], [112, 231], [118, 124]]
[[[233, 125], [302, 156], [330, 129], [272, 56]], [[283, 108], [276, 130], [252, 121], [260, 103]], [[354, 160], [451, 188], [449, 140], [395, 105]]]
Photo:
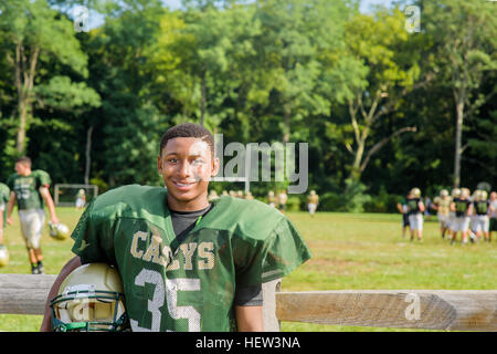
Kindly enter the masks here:
[[[61, 221], [74, 228], [81, 211], [57, 208]], [[450, 246], [442, 240], [436, 218], [424, 223], [422, 242], [401, 237], [401, 216], [384, 214], [290, 212], [303, 232], [313, 259], [286, 277], [283, 291], [367, 289], [497, 289], [497, 236], [491, 243]], [[45, 228], [46, 273], [56, 274], [72, 258], [72, 240], [55, 241]], [[28, 273], [30, 264], [19, 231], [19, 220], [6, 230], [10, 252], [0, 273]], [[38, 331], [42, 317], [0, 314], [0, 331]], [[282, 323], [282, 331], [401, 331], [398, 329]]]

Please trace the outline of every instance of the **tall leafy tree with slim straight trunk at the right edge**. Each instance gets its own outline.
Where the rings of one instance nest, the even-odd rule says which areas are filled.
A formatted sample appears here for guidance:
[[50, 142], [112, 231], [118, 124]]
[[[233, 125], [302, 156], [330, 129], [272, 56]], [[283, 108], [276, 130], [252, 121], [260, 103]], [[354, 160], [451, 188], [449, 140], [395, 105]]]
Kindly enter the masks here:
[[433, 41], [434, 70], [452, 91], [455, 111], [454, 186], [461, 185], [464, 122], [488, 102], [482, 80], [497, 70], [497, 9], [488, 1], [420, 1], [426, 35]]

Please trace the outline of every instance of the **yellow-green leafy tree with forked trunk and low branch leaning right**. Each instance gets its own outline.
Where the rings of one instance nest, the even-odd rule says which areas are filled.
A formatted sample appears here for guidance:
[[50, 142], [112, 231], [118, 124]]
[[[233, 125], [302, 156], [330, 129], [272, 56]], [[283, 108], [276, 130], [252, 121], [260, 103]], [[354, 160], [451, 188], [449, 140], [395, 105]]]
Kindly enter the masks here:
[[[394, 113], [402, 100], [421, 86], [417, 55], [404, 15], [380, 9], [374, 14], [356, 14], [346, 24], [347, 44], [329, 67], [334, 98], [348, 110], [347, 124], [328, 123], [328, 134], [340, 138], [352, 156], [349, 179], [359, 181], [371, 157], [387, 143], [415, 126], [401, 126], [389, 134], [376, 134], [382, 119]], [[373, 140], [374, 138], [374, 140]]]

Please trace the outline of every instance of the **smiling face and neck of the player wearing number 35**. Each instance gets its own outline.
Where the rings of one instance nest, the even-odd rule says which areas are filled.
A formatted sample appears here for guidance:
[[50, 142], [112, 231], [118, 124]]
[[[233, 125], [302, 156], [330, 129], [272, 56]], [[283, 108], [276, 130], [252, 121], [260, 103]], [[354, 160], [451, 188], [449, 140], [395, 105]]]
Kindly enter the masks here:
[[218, 173], [209, 145], [194, 137], [168, 140], [157, 158], [157, 168], [168, 188], [169, 208], [193, 211], [205, 208], [209, 179]]

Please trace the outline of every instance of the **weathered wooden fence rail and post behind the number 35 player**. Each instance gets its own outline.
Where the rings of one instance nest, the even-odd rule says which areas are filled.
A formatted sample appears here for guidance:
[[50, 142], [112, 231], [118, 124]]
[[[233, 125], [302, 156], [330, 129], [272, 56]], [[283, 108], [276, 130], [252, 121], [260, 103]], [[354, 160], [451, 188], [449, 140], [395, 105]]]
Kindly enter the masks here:
[[[43, 314], [56, 275], [0, 274], [0, 313]], [[497, 331], [497, 290], [342, 290], [278, 292], [264, 287], [265, 331], [279, 321]]]

